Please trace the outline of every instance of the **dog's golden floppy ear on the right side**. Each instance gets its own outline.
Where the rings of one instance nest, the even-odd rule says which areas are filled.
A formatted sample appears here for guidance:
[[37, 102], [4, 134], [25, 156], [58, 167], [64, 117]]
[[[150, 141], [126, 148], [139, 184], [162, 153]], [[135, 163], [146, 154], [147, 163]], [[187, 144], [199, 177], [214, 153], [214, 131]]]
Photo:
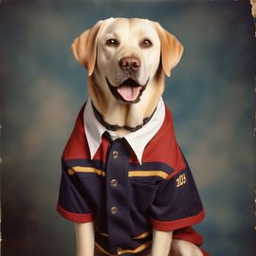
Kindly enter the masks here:
[[161, 43], [161, 62], [163, 70], [165, 74], [170, 77], [171, 70], [179, 63], [184, 48], [174, 35], [169, 33], [158, 23], [155, 23], [155, 27]]

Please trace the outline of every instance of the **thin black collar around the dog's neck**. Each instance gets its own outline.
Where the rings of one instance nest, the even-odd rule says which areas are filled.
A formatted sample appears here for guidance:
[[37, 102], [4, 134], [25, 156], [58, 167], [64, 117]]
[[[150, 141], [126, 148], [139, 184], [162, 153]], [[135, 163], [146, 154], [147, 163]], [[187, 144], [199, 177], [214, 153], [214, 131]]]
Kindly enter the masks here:
[[[153, 112], [153, 114], [149, 117], [149, 118], [145, 118], [143, 119], [143, 122], [141, 124], [138, 124], [136, 127], [131, 127], [128, 125], [124, 125], [124, 126], [119, 126], [118, 124], [109, 124], [107, 123], [104, 119], [103, 116], [101, 115], [101, 113], [98, 111], [98, 109], [95, 107], [95, 105], [92, 102], [92, 107], [93, 107], [93, 112], [94, 115], [96, 117], [96, 119], [98, 119], [101, 124], [108, 130], [108, 131], [118, 131], [119, 129], [125, 129], [128, 130], [130, 132], [136, 132], [137, 130], [139, 130], [140, 128], [142, 128], [146, 123], [148, 123], [150, 121], [150, 119], [152, 119], [155, 110]], [[155, 108], [156, 109], [156, 108]]]

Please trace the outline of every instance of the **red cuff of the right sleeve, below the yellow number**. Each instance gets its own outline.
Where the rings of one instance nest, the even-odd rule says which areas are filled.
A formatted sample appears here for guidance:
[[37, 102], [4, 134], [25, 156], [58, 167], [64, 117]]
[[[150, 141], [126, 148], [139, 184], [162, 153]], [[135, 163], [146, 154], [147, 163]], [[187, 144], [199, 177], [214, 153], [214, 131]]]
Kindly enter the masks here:
[[191, 217], [177, 219], [173, 221], [158, 221], [152, 219], [152, 227], [160, 231], [172, 231], [175, 229], [182, 229], [199, 223], [205, 217], [205, 211], [202, 210]]

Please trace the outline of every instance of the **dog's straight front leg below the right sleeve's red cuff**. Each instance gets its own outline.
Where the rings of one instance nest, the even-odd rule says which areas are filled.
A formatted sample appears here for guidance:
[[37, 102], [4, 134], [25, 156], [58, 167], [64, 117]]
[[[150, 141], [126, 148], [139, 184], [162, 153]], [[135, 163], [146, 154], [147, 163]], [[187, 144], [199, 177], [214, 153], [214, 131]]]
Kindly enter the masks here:
[[152, 256], [168, 256], [172, 244], [173, 232], [153, 229]]

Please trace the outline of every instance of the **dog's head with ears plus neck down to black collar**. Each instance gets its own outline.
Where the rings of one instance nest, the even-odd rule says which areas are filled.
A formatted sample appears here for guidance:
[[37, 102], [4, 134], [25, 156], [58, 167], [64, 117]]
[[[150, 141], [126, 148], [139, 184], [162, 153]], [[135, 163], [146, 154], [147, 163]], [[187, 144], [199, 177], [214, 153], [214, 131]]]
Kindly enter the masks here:
[[72, 50], [87, 68], [89, 94], [102, 116], [124, 124], [133, 109], [129, 122], [137, 124], [154, 111], [164, 73], [171, 75], [183, 46], [158, 23], [110, 18], [83, 32]]

